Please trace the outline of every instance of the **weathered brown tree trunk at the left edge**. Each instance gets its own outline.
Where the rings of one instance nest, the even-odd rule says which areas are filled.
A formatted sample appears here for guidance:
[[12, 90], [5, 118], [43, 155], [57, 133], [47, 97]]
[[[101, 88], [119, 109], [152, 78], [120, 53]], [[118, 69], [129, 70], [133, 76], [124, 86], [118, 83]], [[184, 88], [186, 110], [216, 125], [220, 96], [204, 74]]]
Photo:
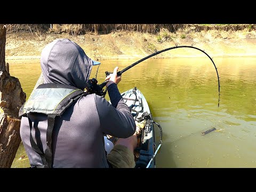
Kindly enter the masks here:
[[26, 101], [18, 78], [5, 67], [6, 27], [0, 24], [0, 168], [9, 168], [19, 148], [19, 109]]

